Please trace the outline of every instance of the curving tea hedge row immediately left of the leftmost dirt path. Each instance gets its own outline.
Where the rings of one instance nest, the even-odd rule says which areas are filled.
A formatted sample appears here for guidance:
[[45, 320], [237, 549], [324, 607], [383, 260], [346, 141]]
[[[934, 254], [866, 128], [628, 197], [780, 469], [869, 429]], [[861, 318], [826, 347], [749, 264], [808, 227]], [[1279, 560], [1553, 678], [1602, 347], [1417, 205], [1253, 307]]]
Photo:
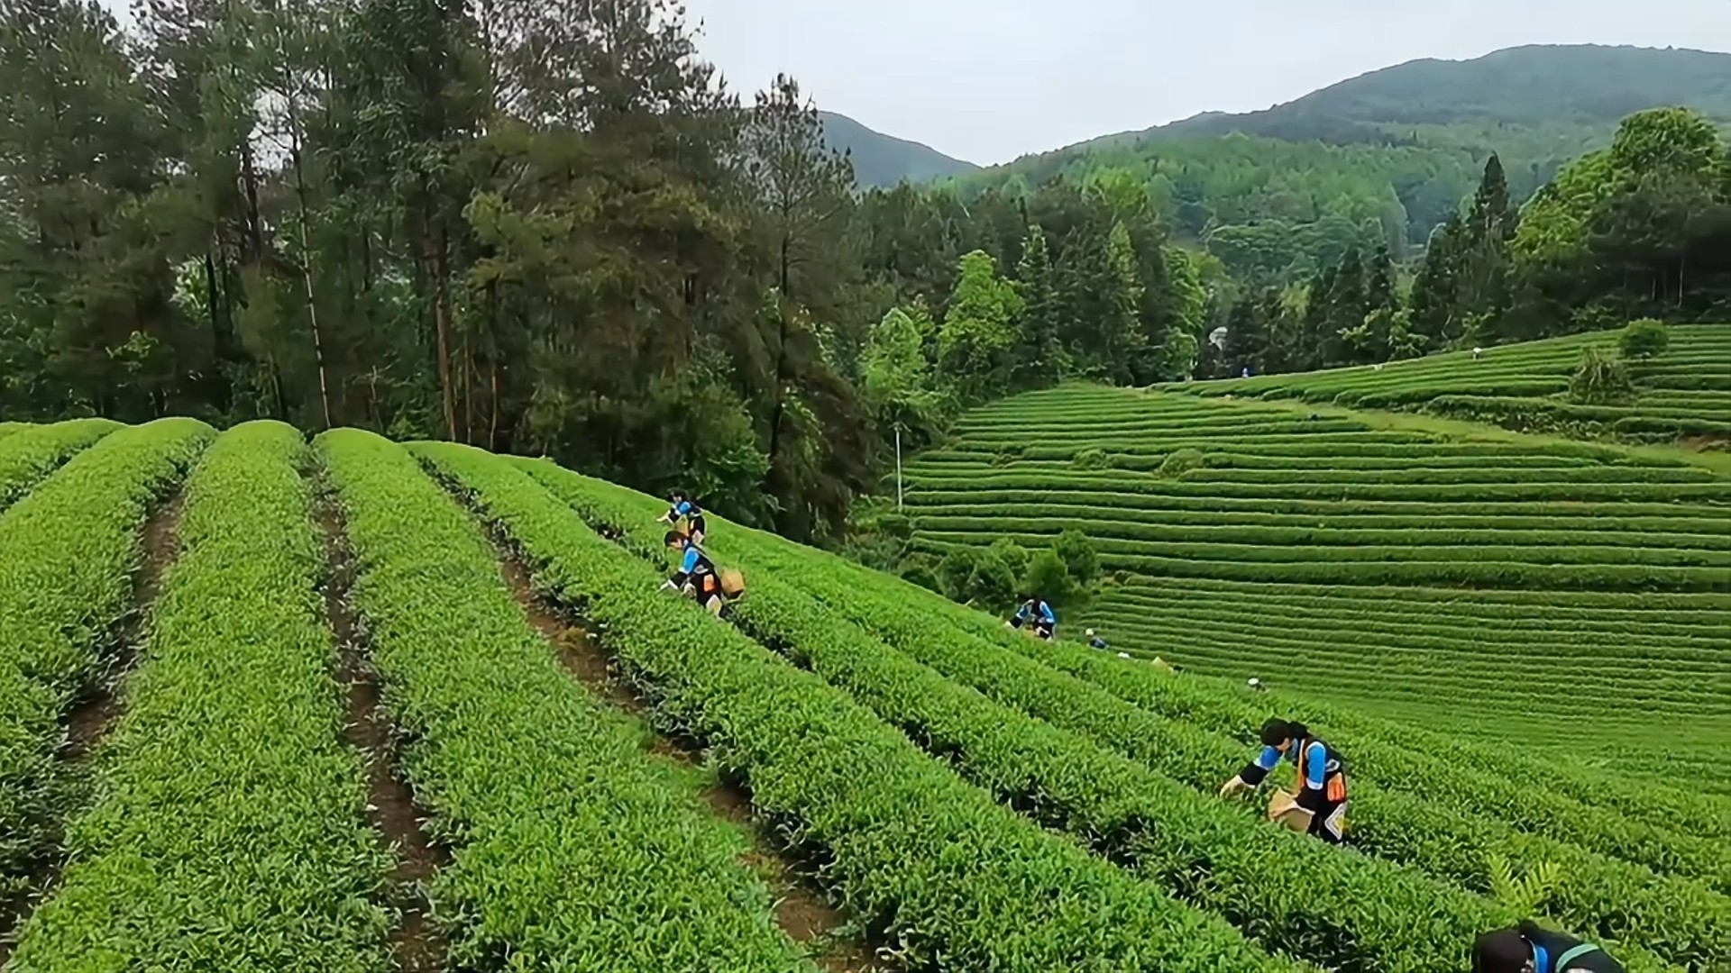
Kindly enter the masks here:
[[196, 419], [119, 429], [0, 514], [0, 892], [57, 841], [61, 718], [133, 611], [149, 509], [211, 436]]

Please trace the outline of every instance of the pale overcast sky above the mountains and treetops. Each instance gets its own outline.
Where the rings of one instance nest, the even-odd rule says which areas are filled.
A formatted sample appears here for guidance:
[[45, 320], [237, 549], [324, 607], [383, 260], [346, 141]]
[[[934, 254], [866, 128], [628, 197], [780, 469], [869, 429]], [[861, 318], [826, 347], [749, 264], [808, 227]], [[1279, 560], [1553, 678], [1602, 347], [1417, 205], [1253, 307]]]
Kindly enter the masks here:
[[1255, 111], [1414, 57], [1523, 43], [1731, 52], [1731, 0], [685, 0], [750, 93], [973, 163], [1200, 111]]

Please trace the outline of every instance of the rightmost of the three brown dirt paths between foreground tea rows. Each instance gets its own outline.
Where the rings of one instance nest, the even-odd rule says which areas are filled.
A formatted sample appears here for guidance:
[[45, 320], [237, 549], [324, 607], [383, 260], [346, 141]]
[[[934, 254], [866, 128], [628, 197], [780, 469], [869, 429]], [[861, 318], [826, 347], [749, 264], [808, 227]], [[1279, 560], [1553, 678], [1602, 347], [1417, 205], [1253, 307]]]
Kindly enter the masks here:
[[[557, 606], [535, 590], [528, 570], [509, 552], [509, 545], [500, 544], [497, 532], [490, 533], [493, 533], [499, 551], [500, 577], [511, 587], [512, 597], [535, 630], [554, 646], [566, 672], [597, 698], [654, 727], [647, 718], [649, 703], [615, 675], [608, 651], [590, 637], [582, 623], [561, 616]], [[656, 729], [649, 753], [682, 767], [701, 767], [705, 760], [703, 746], [698, 741], [668, 736], [660, 729]], [[775, 921], [788, 933], [788, 938], [810, 949], [817, 964], [829, 973], [888, 970], [888, 966], [876, 963], [859, 942], [841, 933], [846, 923], [843, 914], [777, 850], [765, 829], [758, 826], [751, 814], [751, 795], [743, 786], [717, 779], [703, 789], [701, 796], [717, 817], [750, 838], [751, 850], [741, 860], [758, 873], [775, 895]]]

